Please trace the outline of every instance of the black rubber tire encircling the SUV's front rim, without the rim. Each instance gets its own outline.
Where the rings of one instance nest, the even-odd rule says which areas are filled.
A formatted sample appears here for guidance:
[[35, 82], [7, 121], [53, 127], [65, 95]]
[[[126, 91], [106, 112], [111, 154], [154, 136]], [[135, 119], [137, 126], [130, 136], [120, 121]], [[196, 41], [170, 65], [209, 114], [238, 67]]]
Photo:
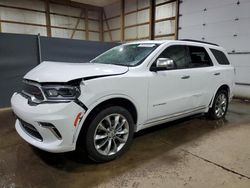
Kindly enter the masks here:
[[[121, 114], [127, 119], [128, 124], [129, 124], [129, 136], [128, 136], [126, 144], [123, 146], [123, 148], [120, 151], [118, 151], [114, 155], [106, 156], [106, 155], [100, 154], [96, 150], [95, 145], [94, 145], [94, 134], [95, 134], [96, 127], [98, 126], [100, 121], [106, 116], [110, 114], [114, 114], [114, 113]], [[111, 106], [111, 107], [107, 107], [103, 109], [92, 119], [91, 123], [88, 126], [88, 130], [86, 133], [85, 147], [86, 147], [89, 158], [91, 160], [94, 160], [95, 162], [105, 162], [105, 161], [110, 161], [119, 157], [128, 149], [129, 145], [131, 144], [133, 135], [134, 135], [134, 128], [135, 126], [134, 126], [133, 118], [131, 114], [125, 108], [120, 107], [120, 106]]]

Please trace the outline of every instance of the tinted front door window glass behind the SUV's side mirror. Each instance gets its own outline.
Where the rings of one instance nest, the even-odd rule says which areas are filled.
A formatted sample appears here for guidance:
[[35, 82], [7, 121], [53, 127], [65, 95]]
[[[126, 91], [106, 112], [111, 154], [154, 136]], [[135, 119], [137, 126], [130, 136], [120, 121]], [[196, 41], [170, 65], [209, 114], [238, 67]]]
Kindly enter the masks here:
[[158, 58], [169, 58], [174, 61], [177, 69], [188, 68], [186, 47], [182, 45], [170, 46]]

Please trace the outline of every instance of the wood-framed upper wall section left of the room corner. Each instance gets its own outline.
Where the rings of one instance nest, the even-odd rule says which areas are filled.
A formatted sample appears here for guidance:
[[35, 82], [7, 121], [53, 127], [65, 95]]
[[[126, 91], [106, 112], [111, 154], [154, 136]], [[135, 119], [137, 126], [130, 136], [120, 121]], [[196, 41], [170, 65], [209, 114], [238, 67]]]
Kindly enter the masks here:
[[101, 8], [58, 1], [0, 0], [0, 31], [100, 41]]

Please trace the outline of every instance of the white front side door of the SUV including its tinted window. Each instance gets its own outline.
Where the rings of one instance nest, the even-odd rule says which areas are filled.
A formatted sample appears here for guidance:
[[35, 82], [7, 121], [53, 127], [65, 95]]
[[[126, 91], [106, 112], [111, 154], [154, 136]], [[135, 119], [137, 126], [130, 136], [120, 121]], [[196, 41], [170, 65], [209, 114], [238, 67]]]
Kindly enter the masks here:
[[[151, 71], [148, 91], [148, 122], [185, 113], [191, 108], [192, 69], [188, 68], [187, 47], [167, 47], [158, 58], [174, 61], [170, 70]], [[157, 58], [157, 59], [158, 59]], [[156, 66], [156, 62], [152, 66]]]

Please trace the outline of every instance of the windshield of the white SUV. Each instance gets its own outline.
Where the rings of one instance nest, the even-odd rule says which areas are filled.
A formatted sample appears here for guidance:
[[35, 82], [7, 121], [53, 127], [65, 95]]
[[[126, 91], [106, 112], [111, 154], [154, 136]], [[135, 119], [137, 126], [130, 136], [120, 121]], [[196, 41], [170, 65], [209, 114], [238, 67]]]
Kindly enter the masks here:
[[114, 64], [121, 66], [136, 66], [154, 51], [158, 44], [124, 44], [116, 46], [93, 59], [92, 63]]

